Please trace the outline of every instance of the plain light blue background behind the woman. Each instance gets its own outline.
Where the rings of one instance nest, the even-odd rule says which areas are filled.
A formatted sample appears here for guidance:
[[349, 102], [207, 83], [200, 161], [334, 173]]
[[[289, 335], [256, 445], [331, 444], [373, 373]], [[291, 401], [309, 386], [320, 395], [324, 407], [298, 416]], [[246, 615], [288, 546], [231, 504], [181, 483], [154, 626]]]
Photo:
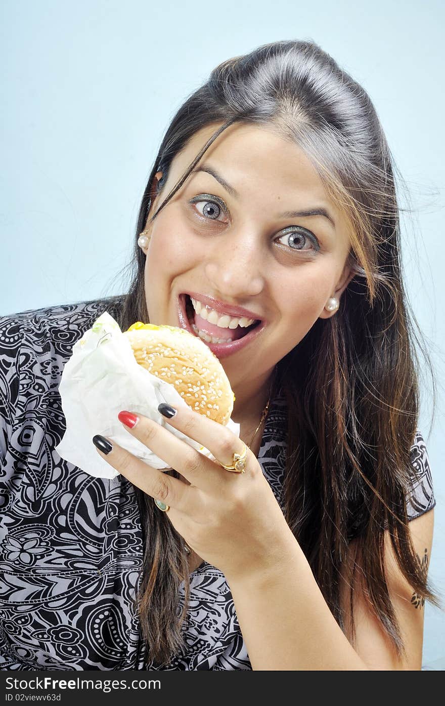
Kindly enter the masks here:
[[[439, 381], [431, 436], [430, 385], [419, 426], [437, 497], [429, 575], [445, 599], [444, 4], [8, 0], [1, 14], [0, 315], [126, 291], [109, 283], [161, 136], [219, 62], [312, 39], [369, 92], [415, 209], [403, 262]], [[425, 613], [423, 663], [444, 669], [445, 613]]]

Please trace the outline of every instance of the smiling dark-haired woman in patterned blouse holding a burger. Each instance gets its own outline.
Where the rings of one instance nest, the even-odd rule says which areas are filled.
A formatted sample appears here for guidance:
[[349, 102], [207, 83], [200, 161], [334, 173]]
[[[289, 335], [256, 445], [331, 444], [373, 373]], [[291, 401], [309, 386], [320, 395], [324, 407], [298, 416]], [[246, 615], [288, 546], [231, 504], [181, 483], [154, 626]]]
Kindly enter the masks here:
[[[377, 114], [317, 44], [212, 71], [161, 143], [128, 294], [2, 320], [4, 669], [420, 669], [435, 501], [398, 239]], [[117, 479], [51, 455], [105, 308], [217, 354], [240, 438], [160, 410], [217, 462], [130, 409], [175, 471], [98, 436]]]

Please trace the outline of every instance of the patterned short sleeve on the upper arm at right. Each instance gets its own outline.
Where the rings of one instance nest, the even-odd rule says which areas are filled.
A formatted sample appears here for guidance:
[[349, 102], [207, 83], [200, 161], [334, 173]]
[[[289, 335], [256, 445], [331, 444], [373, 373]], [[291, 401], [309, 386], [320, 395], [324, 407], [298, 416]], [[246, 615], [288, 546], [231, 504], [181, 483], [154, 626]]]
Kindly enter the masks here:
[[415, 433], [414, 443], [410, 449], [410, 460], [413, 468], [413, 485], [407, 498], [407, 513], [408, 520], [414, 520], [415, 517], [427, 513], [436, 505], [427, 447], [419, 431]]

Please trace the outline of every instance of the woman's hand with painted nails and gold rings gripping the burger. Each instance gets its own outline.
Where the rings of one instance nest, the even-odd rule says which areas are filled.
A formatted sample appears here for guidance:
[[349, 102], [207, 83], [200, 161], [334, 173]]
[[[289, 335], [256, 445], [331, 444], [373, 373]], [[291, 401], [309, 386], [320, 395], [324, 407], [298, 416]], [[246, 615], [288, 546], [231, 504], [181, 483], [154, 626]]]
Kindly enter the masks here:
[[[159, 405], [159, 412], [165, 407]], [[245, 472], [227, 471], [152, 419], [134, 416], [138, 421], [132, 429], [125, 427], [128, 433], [190, 485], [152, 468], [116, 443], [106, 455], [97, 449], [104, 460], [147, 495], [169, 505], [166, 514], [173, 527], [227, 579], [278, 566], [295, 538], [252, 451], [247, 449]], [[169, 424], [225, 465], [233, 465], [234, 453], [243, 453], [238, 436], [190, 407], [180, 407]]]

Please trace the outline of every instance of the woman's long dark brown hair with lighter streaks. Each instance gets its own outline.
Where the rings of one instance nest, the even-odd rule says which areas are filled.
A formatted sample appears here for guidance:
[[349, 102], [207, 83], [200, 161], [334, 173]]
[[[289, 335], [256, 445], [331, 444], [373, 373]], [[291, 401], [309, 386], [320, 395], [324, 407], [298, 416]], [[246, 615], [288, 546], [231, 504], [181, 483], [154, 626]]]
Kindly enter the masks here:
[[[384, 573], [384, 529], [413, 590], [439, 601], [420, 567], [408, 530], [413, 481], [410, 448], [419, 414], [417, 345], [435, 383], [422, 333], [401, 280], [398, 194], [382, 126], [367, 92], [311, 41], [264, 44], [214, 68], [173, 117], [140, 207], [128, 294], [118, 323], [148, 322], [145, 254], [137, 238], [229, 125], [273, 124], [305, 151], [350, 225], [354, 277], [335, 316], [318, 319], [279, 361], [276, 385], [288, 405], [284, 514], [332, 614], [344, 630], [342, 562], [354, 568], [399, 655], [401, 631]], [[164, 198], [173, 157], [201, 128], [220, 124]], [[155, 189], [154, 176], [163, 176]], [[164, 199], [150, 213], [154, 197]], [[417, 333], [415, 333], [415, 328]], [[298, 370], [298, 376], [293, 371]], [[175, 473], [175, 472], [173, 472]], [[159, 664], [183, 647], [189, 574], [183, 540], [152, 498], [138, 493], [145, 530], [145, 572], [138, 607], [149, 659]], [[178, 587], [185, 581], [180, 613]], [[351, 582], [352, 600], [354, 581]], [[353, 616], [351, 622], [354, 642]]]

